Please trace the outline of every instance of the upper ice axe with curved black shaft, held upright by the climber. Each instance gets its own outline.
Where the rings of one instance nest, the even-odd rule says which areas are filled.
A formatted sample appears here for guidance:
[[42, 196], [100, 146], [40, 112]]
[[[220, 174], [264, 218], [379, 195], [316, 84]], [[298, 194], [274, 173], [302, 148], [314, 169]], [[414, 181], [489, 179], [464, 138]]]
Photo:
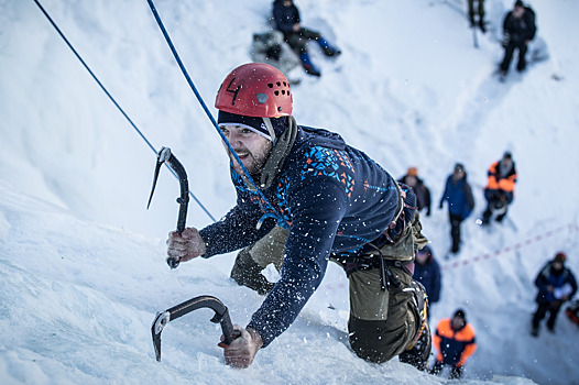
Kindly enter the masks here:
[[[156, 155], [156, 167], [155, 167], [155, 175], [153, 176], [153, 188], [151, 189], [151, 196], [149, 197], [149, 204], [146, 205], [146, 209], [149, 210], [149, 206], [151, 205], [151, 199], [153, 199], [153, 194], [155, 193], [155, 186], [156, 180], [159, 178], [159, 172], [161, 170], [161, 166], [163, 163], [166, 163], [168, 167], [177, 174], [177, 177], [179, 178], [179, 185], [181, 185], [181, 196], [177, 198], [177, 202], [179, 204], [179, 217], [177, 219], [177, 232], [179, 234], [183, 233], [185, 230], [185, 222], [187, 220], [187, 205], [189, 204], [189, 182], [187, 180], [187, 173], [185, 172], [185, 167], [181, 164], [181, 162], [171, 153], [170, 147], [161, 147]], [[175, 257], [167, 257], [167, 265], [171, 268], [176, 268], [179, 265], [179, 260]]]

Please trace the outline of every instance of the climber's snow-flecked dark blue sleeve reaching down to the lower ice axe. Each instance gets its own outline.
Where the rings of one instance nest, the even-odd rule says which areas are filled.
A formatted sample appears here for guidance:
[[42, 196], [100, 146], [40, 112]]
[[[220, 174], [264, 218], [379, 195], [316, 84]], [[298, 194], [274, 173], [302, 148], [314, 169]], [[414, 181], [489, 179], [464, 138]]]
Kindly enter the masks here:
[[330, 177], [318, 177], [292, 193], [281, 278], [248, 324], [259, 331], [263, 348], [292, 324], [321, 283], [347, 205], [343, 187]]

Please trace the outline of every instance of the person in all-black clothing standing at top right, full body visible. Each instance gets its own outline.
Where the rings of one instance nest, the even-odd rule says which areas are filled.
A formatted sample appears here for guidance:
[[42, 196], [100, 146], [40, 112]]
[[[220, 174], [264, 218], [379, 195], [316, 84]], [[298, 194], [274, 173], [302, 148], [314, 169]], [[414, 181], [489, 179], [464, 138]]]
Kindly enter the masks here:
[[504, 58], [500, 67], [501, 76], [509, 73], [515, 50], [518, 50], [516, 69], [518, 72], [525, 70], [527, 45], [535, 37], [536, 31], [535, 12], [531, 7], [523, 4], [523, 1], [517, 0], [514, 9], [506, 14], [503, 22]]

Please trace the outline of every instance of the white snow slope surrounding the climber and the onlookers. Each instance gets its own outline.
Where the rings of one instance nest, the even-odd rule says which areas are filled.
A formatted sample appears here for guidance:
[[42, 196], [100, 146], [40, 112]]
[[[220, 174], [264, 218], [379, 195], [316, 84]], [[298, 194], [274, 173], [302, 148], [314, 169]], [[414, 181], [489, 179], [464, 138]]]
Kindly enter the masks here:
[[[176, 66], [146, 1], [43, 0], [78, 53], [151, 143], [185, 165], [215, 217], [234, 191], [219, 136]], [[459, 0], [299, 0], [303, 24], [341, 50], [312, 47], [321, 78], [295, 76], [298, 123], [340, 132], [394, 177], [418, 167], [433, 194], [425, 233], [444, 268], [431, 324], [457, 307], [477, 331], [468, 384], [579, 384], [579, 328], [561, 312], [555, 334], [529, 337], [533, 279], [562, 250], [579, 273], [579, 2], [533, 0], [534, 46], [548, 59], [493, 75], [511, 0], [487, 0], [478, 50]], [[225, 76], [250, 61], [270, 0], [168, 1], [156, 8], [199, 92], [212, 108]], [[531, 53], [532, 55], [533, 53]], [[330, 265], [296, 322], [248, 370], [225, 365], [211, 310], [163, 332], [156, 311], [214, 295], [244, 326], [262, 298], [229, 279], [234, 254], [170, 271], [178, 183], [105, 96], [32, 0], [0, 0], [0, 382], [2, 384], [440, 384], [397, 359], [358, 359], [346, 337], [347, 279]], [[513, 153], [510, 220], [476, 224], [487, 169]], [[438, 199], [456, 162], [477, 207], [461, 253], [445, 258], [449, 226]], [[211, 222], [192, 201], [188, 226]], [[328, 308], [330, 306], [334, 309]]]

